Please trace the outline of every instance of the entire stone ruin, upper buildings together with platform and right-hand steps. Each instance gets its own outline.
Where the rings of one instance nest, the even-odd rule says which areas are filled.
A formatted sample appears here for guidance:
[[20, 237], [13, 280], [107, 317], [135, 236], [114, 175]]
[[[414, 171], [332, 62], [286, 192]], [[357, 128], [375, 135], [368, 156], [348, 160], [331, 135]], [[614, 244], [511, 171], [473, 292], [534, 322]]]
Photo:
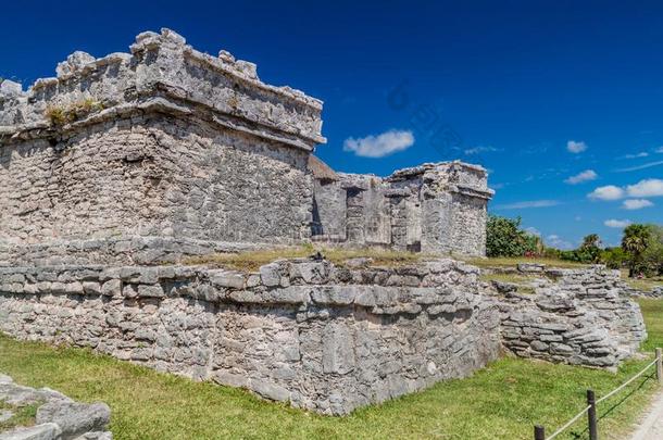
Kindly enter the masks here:
[[[312, 155], [321, 101], [172, 30], [130, 49], [75, 52], [28, 91], [0, 84], [1, 331], [323, 414], [465, 377], [502, 351], [612, 368], [646, 337], [604, 268], [521, 298], [441, 256], [485, 253], [483, 167], [336, 173]], [[183, 264], [303, 242], [425, 257]]]

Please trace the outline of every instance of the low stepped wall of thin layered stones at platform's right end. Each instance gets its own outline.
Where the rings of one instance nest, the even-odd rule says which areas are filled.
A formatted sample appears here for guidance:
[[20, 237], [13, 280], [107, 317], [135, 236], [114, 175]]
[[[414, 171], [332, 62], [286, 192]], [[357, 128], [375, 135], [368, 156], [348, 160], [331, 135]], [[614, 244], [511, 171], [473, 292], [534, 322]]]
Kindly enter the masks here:
[[[531, 271], [526, 271], [533, 273]], [[647, 338], [640, 307], [623, 294], [618, 271], [540, 268], [534, 293], [493, 282], [502, 344], [523, 357], [614, 368]]]

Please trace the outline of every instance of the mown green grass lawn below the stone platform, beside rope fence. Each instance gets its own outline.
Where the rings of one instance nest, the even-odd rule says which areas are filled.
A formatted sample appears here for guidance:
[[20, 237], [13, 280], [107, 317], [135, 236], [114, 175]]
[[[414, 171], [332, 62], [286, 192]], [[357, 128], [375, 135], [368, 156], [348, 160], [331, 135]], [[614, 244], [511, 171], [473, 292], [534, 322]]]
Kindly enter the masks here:
[[[645, 347], [663, 344], [663, 301], [641, 304], [650, 332]], [[534, 424], [552, 433], [581, 410], [587, 388], [604, 395], [650, 359], [627, 362], [617, 374], [502, 359], [467, 379], [440, 382], [347, 417], [323, 417], [87, 350], [0, 336], [0, 372], [32, 387], [107, 402], [115, 439], [530, 439]], [[601, 404], [601, 438], [623, 439], [655, 389], [655, 380], [638, 379]], [[587, 438], [585, 426], [583, 418], [560, 438]]]

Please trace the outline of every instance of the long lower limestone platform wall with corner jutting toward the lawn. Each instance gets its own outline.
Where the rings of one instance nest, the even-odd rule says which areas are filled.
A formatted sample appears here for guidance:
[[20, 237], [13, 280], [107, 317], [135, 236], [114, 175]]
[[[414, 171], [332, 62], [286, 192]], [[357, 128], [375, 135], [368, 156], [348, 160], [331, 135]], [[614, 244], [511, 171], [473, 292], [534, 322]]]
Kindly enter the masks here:
[[278, 261], [254, 274], [14, 266], [0, 269], [0, 330], [345, 414], [497, 357], [499, 313], [477, 275], [451, 260]]

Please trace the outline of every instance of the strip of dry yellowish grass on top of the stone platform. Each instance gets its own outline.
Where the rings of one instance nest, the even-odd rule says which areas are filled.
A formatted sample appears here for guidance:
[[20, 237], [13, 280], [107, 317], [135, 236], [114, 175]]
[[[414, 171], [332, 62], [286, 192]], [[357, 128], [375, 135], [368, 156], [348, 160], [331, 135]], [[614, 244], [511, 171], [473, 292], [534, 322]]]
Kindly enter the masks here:
[[374, 266], [399, 266], [412, 264], [430, 255], [414, 252], [398, 252], [380, 249], [335, 249], [317, 248], [313, 246], [282, 248], [271, 250], [248, 251], [239, 253], [216, 253], [211, 255], [192, 256], [185, 260], [189, 265], [216, 265], [237, 271], [254, 272], [260, 266], [282, 259], [303, 259], [321, 252], [326, 260], [337, 265], [343, 265], [351, 259], [371, 259]]

